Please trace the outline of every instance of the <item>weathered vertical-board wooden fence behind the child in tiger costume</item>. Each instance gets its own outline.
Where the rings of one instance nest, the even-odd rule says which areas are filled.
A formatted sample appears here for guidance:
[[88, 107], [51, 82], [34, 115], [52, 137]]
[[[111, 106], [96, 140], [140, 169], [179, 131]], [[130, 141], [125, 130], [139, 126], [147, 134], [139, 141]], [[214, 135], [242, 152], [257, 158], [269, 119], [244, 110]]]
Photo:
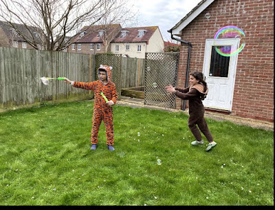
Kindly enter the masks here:
[[[144, 85], [144, 59], [122, 58], [120, 87]], [[102, 63], [104, 64], [104, 63]], [[72, 81], [95, 80], [96, 55], [0, 48], [0, 108], [43, 101], [93, 98], [94, 93], [64, 81], [41, 83], [42, 76], [65, 76]]]

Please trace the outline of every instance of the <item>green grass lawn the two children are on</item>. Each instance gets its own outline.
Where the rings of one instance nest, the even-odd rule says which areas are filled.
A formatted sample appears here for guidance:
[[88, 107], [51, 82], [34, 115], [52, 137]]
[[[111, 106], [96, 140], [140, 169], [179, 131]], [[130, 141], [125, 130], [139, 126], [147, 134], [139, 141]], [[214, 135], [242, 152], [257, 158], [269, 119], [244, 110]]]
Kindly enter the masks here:
[[91, 151], [93, 105], [0, 114], [1, 205], [274, 204], [273, 131], [207, 119], [218, 145], [206, 152], [186, 114], [115, 105], [115, 151], [103, 123]]

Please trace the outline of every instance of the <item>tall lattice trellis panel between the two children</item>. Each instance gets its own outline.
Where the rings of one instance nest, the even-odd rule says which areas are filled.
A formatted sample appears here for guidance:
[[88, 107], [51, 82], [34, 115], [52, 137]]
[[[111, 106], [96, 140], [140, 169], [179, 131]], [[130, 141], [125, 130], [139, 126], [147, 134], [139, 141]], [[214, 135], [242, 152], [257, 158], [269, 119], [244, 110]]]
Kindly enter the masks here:
[[146, 53], [145, 59], [144, 103], [175, 108], [175, 95], [164, 87], [177, 83], [179, 53]]

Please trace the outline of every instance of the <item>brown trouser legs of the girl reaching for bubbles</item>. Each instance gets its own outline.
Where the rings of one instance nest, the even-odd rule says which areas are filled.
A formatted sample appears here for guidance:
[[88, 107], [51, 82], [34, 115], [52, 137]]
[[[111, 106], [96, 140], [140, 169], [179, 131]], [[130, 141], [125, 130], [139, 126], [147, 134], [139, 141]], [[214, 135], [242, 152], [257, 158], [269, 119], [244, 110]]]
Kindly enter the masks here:
[[213, 137], [208, 129], [208, 125], [206, 123], [206, 120], [203, 118], [203, 115], [201, 116], [192, 116], [190, 115], [188, 119], [188, 127], [192, 134], [195, 136], [197, 141], [201, 140], [201, 133], [199, 132], [199, 129], [197, 128], [197, 125], [204, 136], [206, 136], [208, 142], [213, 141]]

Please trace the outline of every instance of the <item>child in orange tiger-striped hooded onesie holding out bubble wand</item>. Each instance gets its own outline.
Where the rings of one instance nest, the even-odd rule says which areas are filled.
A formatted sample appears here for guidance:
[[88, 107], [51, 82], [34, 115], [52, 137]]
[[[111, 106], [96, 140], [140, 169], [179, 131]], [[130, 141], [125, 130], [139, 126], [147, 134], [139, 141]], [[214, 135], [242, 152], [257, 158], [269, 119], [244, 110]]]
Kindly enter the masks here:
[[[115, 84], [111, 82], [111, 69], [111, 66], [100, 65], [98, 68], [99, 80], [91, 83], [70, 81], [65, 78], [65, 83], [70, 83], [73, 87], [94, 91], [94, 114], [91, 128], [92, 150], [96, 149], [98, 131], [102, 120], [106, 129], [108, 149], [110, 151], [115, 150], [115, 148], [113, 148], [113, 109], [111, 105], [114, 105], [118, 101], [118, 93], [116, 92]], [[104, 100], [100, 92], [106, 96], [109, 103]]]

